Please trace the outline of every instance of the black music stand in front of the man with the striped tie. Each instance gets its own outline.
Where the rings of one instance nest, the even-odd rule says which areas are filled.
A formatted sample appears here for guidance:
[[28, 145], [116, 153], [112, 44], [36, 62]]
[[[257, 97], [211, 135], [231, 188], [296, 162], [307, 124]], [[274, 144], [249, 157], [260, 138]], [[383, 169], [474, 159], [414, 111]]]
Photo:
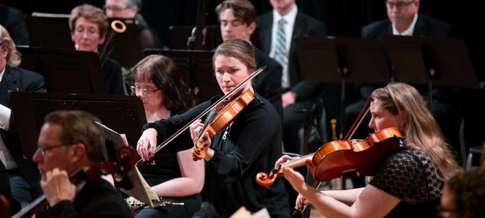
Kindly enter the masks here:
[[390, 72], [378, 39], [295, 38], [307, 81], [341, 83], [341, 122], [345, 123], [345, 83], [387, 84]]

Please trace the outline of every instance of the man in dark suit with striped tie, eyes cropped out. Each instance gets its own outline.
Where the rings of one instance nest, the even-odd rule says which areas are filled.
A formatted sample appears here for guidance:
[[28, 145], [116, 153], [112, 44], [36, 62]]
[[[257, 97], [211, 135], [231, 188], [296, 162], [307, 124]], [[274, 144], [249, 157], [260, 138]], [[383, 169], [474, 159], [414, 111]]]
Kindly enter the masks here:
[[270, 3], [273, 11], [258, 18], [261, 44], [264, 52], [283, 66], [283, 144], [285, 151], [299, 153], [298, 130], [303, 125], [303, 115], [287, 106], [293, 104], [296, 109], [310, 109], [323, 85], [305, 82], [293, 39], [326, 37], [327, 31], [323, 22], [298, 11], [295, 0], [270, 0]]

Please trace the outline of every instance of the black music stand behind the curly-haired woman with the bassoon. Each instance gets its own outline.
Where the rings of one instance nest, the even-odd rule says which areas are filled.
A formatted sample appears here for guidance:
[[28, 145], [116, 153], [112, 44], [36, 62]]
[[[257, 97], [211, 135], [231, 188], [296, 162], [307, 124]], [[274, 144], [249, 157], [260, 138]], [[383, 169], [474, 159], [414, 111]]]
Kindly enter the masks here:
[[[27, 16], [25, 22], [31, 47], [75, 50], [68, 20], [68, 17]], [[126, 25], [126, 31], [117, 36], [109, 57], [123, 67], [134, 66], [142, 59], [140, 38], [134, 19], [109, 18], [108, 20], [110, 24], [113, 20], [120, 20]]]

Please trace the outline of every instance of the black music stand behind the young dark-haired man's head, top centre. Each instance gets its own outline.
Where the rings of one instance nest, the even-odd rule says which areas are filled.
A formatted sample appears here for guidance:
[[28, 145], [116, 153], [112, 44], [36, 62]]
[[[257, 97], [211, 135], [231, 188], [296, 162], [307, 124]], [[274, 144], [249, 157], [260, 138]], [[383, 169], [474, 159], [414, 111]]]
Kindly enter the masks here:
[[[173, 49], [187, 49], [187, 39], [192, 34], [193, 26], [171, 26], [170, 27], [170, 38], [172, 38]], [[221, 26], [210, 25], [206, 26], [206, 41], [202, 50], [212, 50], [223, 42], [221, 35]], [[259, 37], [259, 28], [251, 34], [251, 43], [258, 47], [260, 50], [263, 49], [261, 45], [261, 39]]]

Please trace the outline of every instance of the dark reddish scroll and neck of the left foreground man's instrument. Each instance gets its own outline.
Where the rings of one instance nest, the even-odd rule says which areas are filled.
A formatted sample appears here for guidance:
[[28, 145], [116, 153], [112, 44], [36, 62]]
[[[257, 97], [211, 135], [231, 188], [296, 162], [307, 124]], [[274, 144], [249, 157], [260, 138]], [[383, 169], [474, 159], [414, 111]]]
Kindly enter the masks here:
[[[136, 154], [132, 148], [128, 146], [120, 146], [116, 149], [116, 159], [118, 162], [99, 163], [92, 167], [81, 167], [69, 175], [72, 184], [78, 185], [82, 181], [87, 183], [95, 182], [101, 175], [106, 174], [123, 174], [133, 169], [136, 162]], [[29, 206], [23, 208], [16, 213], [12, 218], [30, 218], [37, 211], [47, 206], [46, 196], [41, 195], [35, 199]]]

